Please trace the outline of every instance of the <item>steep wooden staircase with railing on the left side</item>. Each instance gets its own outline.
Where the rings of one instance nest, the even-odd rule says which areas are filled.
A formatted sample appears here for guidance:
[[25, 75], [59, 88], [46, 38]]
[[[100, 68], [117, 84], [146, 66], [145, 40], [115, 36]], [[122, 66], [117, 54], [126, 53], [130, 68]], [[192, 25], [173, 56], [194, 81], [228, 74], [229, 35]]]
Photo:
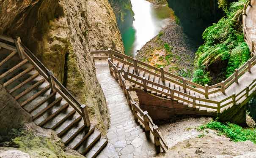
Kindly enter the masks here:
[[47, 68], [32, 60], [35, 56], [29, 53], [19, 39], [0, 36], [0, 83], [38, 126], [55, 130], [66, 146], [86, 158], [95, 158], [107, 139], [85, 122], [86, 106], [74, 105], [77, 101], [66, 88], [52, 75], [47, 78], [48, 72], [43, 71]]

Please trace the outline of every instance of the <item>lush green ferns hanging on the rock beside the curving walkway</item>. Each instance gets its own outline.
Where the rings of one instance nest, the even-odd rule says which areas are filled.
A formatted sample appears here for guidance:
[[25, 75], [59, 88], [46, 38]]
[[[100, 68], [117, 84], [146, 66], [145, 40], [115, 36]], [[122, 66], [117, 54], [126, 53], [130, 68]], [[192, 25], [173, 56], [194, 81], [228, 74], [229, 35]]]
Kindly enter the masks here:
[[[219, 7], [226, 8], [226, 0], [219, 0]], [[226, 9], [226, 16], [217, 24], [208, 27], [203, 33], [204, 44], [196, 52], [193, 81], [199, 84], [210, 84], [212, 78], [207, 70], [216, 69], [212, 64], [221, 65], [221, 74], [228, 78], [250, 58], [250, 51], [243, 41], [240, 17], [245, 0], [231, 3]], [[225, 10], [225, 9], [224, 9]], [[217, 74], [218, 75], [218, 74]]]

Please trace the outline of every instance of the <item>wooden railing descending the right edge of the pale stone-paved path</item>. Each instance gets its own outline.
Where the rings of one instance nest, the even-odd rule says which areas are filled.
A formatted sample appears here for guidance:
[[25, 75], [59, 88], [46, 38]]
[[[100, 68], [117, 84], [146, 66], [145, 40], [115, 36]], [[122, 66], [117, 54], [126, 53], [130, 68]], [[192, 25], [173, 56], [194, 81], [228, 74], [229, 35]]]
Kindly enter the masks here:
[[164, 152], [168, 150], [168, 145], [162, 137], [158, 127], [153, 123], [151, 117], [149, 116], [147, 111], [143, 111], [140, 109], [138, 104], [132, 99], [131, 92], [129, 86], [126, 83], [126, 79], [122, 73], [121, 68], [117, 67], [111, 59], [108, 60], [110, 73], [119, 80], [119, 85], [123, 88], [124, 94], [127, 98], [129, 105], [132, 107], [132, 113], [135, 117], [135, 120], [143, 123], [145, 131], [151, 132], [154, 136], [154, 144], [155, 146], [160, 146]]

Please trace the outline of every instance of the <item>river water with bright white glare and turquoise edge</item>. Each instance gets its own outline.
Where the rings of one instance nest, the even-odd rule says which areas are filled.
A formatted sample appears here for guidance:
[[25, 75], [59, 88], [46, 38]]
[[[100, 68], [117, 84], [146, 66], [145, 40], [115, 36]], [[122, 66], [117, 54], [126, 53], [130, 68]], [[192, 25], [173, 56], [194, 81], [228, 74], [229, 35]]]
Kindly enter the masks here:
[[136, 51], [156, 36], [173, 19], [167, 2], [154, 5], [146, 0], [131, 0], [135, 13], [133, 26], [121, 32], [125, 54], [135, 57]]

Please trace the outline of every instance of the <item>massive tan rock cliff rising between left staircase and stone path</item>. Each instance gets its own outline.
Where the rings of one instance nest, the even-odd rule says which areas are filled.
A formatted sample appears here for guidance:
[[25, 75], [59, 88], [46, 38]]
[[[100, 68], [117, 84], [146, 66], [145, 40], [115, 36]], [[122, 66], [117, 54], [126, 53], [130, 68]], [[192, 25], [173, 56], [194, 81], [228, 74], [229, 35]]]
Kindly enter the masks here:
[[105, 96], [90, 50], [124, 52], [107, 0], [2, 0], [0, 34], [19, 36], [83, 104], [101, 131], [109, 126]]

